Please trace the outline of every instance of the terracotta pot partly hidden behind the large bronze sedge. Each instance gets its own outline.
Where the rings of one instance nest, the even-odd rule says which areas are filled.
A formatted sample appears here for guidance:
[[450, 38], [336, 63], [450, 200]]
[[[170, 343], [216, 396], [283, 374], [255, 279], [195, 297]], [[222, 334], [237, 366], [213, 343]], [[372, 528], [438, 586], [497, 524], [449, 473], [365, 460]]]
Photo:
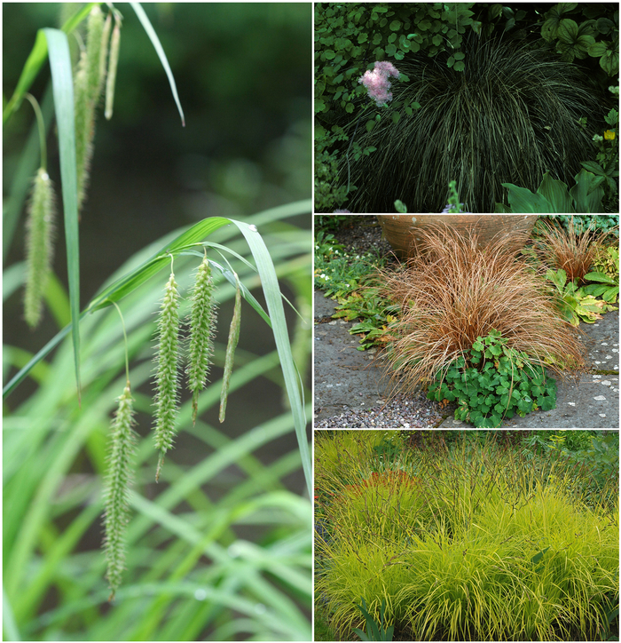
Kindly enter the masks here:
[[399, 258], [416, 256], [416, 232], [430, 225], [444, 223], [457, 234], [473, 229], [479, 235], [479, 245], [484, 246], [499, 233], [507, 236], [518, 231], [530, 233], [537, 221], [536, 214], [378, 214], [377, 218]]

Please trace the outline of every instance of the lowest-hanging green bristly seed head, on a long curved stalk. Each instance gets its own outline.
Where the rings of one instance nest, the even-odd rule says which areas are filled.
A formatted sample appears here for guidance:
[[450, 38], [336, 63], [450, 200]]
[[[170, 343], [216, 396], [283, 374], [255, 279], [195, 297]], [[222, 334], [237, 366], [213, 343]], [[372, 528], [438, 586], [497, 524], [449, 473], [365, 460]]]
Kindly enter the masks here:
[[110, 585], [110, 598], [121, 585], [125, 568], [125, 532], [128, 522], [128, 494], [131, 482], [131, 456], [136, 441], [132, 426], [134, 420], [133, 399], [128, 382], [119, 397], [119, 407], [112, 422], [108, 472], [106, 476], [104, 525], [106, 536], [106, 578]]

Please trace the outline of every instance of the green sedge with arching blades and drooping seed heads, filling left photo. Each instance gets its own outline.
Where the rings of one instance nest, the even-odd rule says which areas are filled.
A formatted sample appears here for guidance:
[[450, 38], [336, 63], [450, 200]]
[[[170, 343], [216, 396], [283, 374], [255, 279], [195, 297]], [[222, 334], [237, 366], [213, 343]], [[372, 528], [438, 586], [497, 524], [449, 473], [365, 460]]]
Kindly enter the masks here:
[[[6, 131], [49, 60], [55, 121], [33, 99], [35, 141], [50, 129], [59, 150], [68, 292], [49, 260], [53, 200], [41, 145], [30, 266], [4, 272], [4, 298], [30, 279], [25, 322], [51, 313], [57, 328], [35, 354], [21, 341], [4, 345], [4, 638], [308, 640], [311, 203], [243, 221], [203, 211], [181, 227], [168, 212], [167, 234], [143, 240], [126, 261], [106, 248], [121, 265], [105, 280], [98, 274], [97, 294], [81, 306], [79, 254], [92, 251], [78, 225], [91, 112], [108, 86], [110, 115], [120, 23], [132, 17], [99, 3], [72, 9], [62, 29], [38, 32], [4, 110]], [[132, 11], [183, 119], [158, 36], [139, 4]], [[74, 65], [67, 33], [81, 26]], [[18, 174], [32, 156], [27, 146]], [[18, 219], [19, 201], [12, 194]], [[117, 241], [149, 227], [134, 225]]]

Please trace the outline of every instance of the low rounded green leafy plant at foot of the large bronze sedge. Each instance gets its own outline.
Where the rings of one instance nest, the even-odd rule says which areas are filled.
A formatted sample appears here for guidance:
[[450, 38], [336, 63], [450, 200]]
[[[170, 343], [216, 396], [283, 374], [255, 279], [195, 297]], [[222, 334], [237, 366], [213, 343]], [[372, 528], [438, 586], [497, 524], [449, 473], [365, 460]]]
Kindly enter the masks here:
[[507, 346], [507, 339], [491, 330], [477, 337], [470, 350], [472, 365], [463, 356], [429, 386], [429, 400], [457, 401], [455, 419], [468, 420], [477, 428], [497, 427], [503, 417], [524, 417], [537, 408], [554, 409], [556, 380], [533, 364], [523, 351]]

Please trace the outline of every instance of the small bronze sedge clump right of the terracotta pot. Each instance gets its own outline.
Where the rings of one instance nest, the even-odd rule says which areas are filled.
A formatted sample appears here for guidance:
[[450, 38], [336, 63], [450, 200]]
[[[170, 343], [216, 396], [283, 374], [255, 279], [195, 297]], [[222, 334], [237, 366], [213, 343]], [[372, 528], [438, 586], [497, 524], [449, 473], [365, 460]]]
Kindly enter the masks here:
[[548, 266], [554, 270], [564, 270], [567, 279], [579, 286], [595, 264], [597, 244], [594, 242], [603, 242], [608, 234], [593, 235], [594, 220], [586, 232], [579, 235], [576, 234], [573, 217], [570, 217], [567, 229], [542, 223], [540, 233], [543, 247], [539, 249], [540, 255]]

